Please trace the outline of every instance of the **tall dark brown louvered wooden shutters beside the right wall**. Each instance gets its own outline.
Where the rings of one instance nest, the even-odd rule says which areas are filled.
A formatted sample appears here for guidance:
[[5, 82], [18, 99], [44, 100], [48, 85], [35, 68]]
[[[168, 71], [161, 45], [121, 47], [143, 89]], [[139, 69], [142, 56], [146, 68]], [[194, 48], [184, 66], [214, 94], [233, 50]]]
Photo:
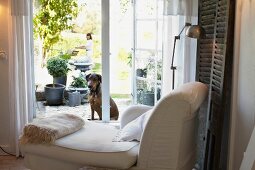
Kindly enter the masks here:
[[[210, 4], [210, 5], [209, 5]], [[209, 8], [211, 6], [211, 8]], [[199, 24], [206, 29], [207, 38], [198, 44], [198, 68], [197, 79], [208, 84], [209, 76], [209, 99], [207, 110], [207, 137], [204, 158], [204, 170], [225, 170], [227, 169], [229, 122], [230, 122], [230, 101], [232, 83], [232, 61], [233, 61], [233, 40], [234, 40], [234, 7], [231, 0], [200, 0]], [[214, 12], [213, 12], [214, 10]], [[207, 28], [205, 19], [211, 14], [213, 29]], [[214, 14], [214, 18], [213, 18]], [[206, 17], [205, 17], [206, 16]], [[213, 31], [212, 31], [213, 30]], [[210, 34], [210, 35], [208, 35]], [[210, 44], [203, 41], [212, 38]], [[209, 42], [209, 41], [208, 41]], [[208, 48], [204, 50], [204, 48]], [[204, 52], [212, 50], [211, 60]], [[207, 58], [204, 58], [207, 56]], [[208, 67], [203, 68], [204, 62]], [[202, 71], [203, 70], [203, 71]], [[206, 76], [205, 76], [206, 75]]]

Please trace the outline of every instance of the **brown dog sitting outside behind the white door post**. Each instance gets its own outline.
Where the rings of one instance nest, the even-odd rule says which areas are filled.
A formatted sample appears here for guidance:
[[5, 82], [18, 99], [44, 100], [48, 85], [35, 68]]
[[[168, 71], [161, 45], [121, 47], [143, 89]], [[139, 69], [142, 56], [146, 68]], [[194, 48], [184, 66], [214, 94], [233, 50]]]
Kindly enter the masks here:
[[[102, 120], [102, 91], [101, 82], [102, 76], [99, 74], [88, 74], [86, 76], [89, 88], [89, 103], [91, 107], [91, 119], [94, 120], [95, 111], [99, 119]], [[119, 110], [116, 103], [110, 97], [110, 119], [117, 120], [119, 117]]]

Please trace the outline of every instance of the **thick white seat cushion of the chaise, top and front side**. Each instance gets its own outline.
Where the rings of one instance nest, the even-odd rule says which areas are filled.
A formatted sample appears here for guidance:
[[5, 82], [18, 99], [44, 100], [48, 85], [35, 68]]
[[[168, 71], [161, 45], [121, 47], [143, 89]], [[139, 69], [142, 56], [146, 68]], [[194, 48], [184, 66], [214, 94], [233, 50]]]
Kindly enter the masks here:
[[127, 169], [137, 160], [138, 142], [112, 142], [118, 132], [113, 126], [86, 122], [84, 128], [56, 140], [55, 145], [22, 146], [22, 151], [81, 165]]

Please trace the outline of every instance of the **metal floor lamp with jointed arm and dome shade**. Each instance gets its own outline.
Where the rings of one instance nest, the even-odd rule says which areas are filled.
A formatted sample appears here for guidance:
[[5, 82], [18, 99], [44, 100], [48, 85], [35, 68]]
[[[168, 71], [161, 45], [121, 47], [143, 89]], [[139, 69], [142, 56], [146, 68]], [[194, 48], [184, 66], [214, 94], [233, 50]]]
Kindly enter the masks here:
[[172, 80], [172, 89], [174, 89], [174, 80], [175, 80], [175, 70], [177, 69], [176, 66], [174, 66], [174, 52], [175, 52], [175, 45], [176, 45], [176, 40], [180, 39], [181, 33], [184, 31], [184, 29], [187, 28], [186, 30], [186, 36], [190, 38], [196, 38], [200, 39], [205, 36], [205, 30], [203, 27], [199, 25], [191, 25], [191, 23], [185, 23], [183, 28], [181, 29], [180, 33], [177, 36], [174, 36], [174, 47], [173, 47], [173, 55], [172, 55], [172, 62], [171, 62], [171, 70], [173, 73], [173, 80]]

